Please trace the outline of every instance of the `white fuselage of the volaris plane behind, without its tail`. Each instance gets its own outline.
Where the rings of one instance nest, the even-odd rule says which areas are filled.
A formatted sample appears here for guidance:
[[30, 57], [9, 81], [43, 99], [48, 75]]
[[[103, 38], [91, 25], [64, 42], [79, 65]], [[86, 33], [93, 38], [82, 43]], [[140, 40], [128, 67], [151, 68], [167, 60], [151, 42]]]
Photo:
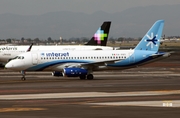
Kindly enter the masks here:
[[[29, 46], [0, 46], [0, 62], [7, 63], [9, 59], [25, 53]], [[31, 51], [41, 50], [113, 50], [113, 47], [106, 46], [82, 46], [82, 45], [58, 45], [58, 46], [32, 46]]]

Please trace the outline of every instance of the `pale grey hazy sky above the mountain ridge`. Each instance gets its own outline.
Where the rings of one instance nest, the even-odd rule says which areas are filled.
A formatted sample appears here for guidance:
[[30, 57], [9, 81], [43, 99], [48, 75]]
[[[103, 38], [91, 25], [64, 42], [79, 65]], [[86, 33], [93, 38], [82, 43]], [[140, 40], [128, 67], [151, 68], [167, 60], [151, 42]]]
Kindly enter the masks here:
[[0, 0], [0, 14], [40, 15], [55, 11], [108, 13], [148, 5], [180, 4], [180, 0]]

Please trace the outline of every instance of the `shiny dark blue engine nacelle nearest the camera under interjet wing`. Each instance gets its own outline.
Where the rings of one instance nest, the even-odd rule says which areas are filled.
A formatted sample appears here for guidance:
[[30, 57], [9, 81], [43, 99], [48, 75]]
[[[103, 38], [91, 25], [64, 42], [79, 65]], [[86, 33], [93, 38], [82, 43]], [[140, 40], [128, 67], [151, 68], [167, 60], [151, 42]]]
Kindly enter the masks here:
[[79, 77], [81, 75], [87, 75], [88, 71], [82, 68], [65, 68], [64, 76], [67, 77]]

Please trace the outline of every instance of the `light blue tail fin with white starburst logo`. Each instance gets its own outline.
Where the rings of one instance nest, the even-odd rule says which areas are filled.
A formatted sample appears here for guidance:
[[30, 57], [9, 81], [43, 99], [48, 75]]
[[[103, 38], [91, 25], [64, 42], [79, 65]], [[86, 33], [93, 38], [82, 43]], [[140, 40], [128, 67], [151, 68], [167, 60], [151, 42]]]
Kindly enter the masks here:
[[142, 38], [135, 50], [158, 51], [161, 35], [164, 27], [164, 20], [158, 20]]

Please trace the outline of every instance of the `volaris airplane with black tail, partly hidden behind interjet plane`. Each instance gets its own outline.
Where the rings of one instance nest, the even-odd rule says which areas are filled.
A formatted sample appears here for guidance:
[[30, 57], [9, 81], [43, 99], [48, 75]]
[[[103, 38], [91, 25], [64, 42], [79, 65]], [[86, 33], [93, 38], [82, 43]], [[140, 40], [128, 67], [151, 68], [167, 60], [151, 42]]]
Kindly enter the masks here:
[[[113, 50], [113, 47], [106, 46], [111, 22], [105, 21], [98, 28], [91, 40], [85, 45], [60, 45], [60, 46], [33, 46], [31, 51], [38, 50]], [[9, 59], [25, 53], [29, 46], [0, 46], [0, 62], [7, 63]]]

